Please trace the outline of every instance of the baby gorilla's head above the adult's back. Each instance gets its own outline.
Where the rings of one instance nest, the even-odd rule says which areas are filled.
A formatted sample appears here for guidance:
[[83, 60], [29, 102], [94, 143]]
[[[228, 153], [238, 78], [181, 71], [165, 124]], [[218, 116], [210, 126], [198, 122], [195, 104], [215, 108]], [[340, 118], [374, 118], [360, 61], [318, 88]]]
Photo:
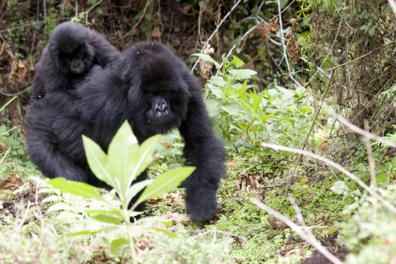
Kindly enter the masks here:
[[89, 38], [90, 29], [72, 22], [52, 31], [49, 50], [63, 74], [81, 74], [91, 67], [95, 52]]

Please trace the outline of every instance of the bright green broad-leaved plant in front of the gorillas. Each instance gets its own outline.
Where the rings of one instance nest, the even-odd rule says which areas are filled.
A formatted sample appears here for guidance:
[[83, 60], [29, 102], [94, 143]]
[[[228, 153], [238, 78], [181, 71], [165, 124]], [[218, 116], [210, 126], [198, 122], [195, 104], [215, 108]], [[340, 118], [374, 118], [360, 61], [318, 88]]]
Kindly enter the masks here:
[[[174, 233], [159, 227], [147, 227], [143, 229], [133, 228], [130, 223], [130, 217], [135, 217], [140, 212], [134, 209], [140, 203], [153, 197], [160, 197], [165, 192], [179, 185], [193, 171], [194, 167], [183, 167], [170, 170], [155, 180], [144, 180], [132, 184], [138, 175], [140, 175], [150, 164], [155, 147], [160, 139], [160, 135], [147, 139], [139, 146], [136, 137], [133, 135], [129, 124], [125, 121], [117, 131], [114, 139], [110, 143], [108, 154], [106, 154], [99, 145], [91, 139], [83, 137], [83, 144], [87, 161], [96, 177], [114, 188], [117, 197], [114, 201], [106, 199], [100, 192], [108, 193], [85, 183], [67, 181], [64, 178], [56, 178], [49, 181], [49, 184], [63, 192], [67, 192], [79, 197], [96, 200], [106, 204], [106, 210], [93, 209], [85, 210], [85, 214], [104, 224], [103, 228], [95, 230], [81, 230], [69, 233], [68, 236], [75, 235], [95, 235], [100, 232], [113, 232], [111, 249], [114, 253], [118, 249], [128, 244], [131, 250], [131, 257], [134, 263], [137, 261], [135, 252], [135, 237], [139, 237], [147, 232], [162, 232], [171, 237], [178, 237]], [[132, 184], [132, 185], [131, 185]], [[128, 210], [130, 201], [144, 188], [138, 200]], [[121, 205], [121, 208], [120, 206]], [[54, 205], [56, 206], [56, 205]], [[50, 208], [51, 209], [51, 208]], [[160, 222], [169, 226], [171, 222], [158, 217], [146, 217], [140, 221]], [[139, 223], [139, 220], [137, 221]]]

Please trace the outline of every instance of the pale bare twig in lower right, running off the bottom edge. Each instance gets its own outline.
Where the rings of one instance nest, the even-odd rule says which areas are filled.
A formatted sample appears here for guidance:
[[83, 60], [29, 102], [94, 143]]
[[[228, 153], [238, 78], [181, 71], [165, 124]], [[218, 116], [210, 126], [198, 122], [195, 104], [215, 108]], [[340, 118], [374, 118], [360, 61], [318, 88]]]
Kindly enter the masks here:
[[329, 259], [331, 262], [334, 264], [342, 264], [342, 261], [339, 260], [336, 256], [334, 256], [332, 253], [330, 253], [324, 246], [320, 244], [316, 238], [313, 236], [307, 235], [300, 227], [298, 227], [296, 224], [294, 224], [293, 221], [291, 221], [289, 218], [286, 216], [280, 214], [279, 212], [273, 210], [271, 207], [263, 204], [262, 202], [252, 199], [252, 203], [262, 210], [265, 210], [267, 213], [271, 214], [272, 216], [278, 218], [280, 221], [288, 225], [294, 232], [296, 232], [302, 239], [310, 243], [313, 247], [315, 247], [319, 252], [321, 252], [327, 259]]

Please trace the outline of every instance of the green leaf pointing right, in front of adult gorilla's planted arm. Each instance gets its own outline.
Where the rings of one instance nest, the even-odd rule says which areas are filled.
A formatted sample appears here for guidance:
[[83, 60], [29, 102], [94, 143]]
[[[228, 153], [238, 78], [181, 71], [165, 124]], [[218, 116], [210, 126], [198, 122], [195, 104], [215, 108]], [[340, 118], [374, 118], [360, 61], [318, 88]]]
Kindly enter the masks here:
[[157, 177], [152, 184], [150, 184], [139, 197], [135, 204], [139, 204], [153, 197], [161, 197], [166, 192], [171, 191], [185, 180], [193, 171], [195, 167], [183, 167], [180, 169], [169, 170], [159, 177]]

